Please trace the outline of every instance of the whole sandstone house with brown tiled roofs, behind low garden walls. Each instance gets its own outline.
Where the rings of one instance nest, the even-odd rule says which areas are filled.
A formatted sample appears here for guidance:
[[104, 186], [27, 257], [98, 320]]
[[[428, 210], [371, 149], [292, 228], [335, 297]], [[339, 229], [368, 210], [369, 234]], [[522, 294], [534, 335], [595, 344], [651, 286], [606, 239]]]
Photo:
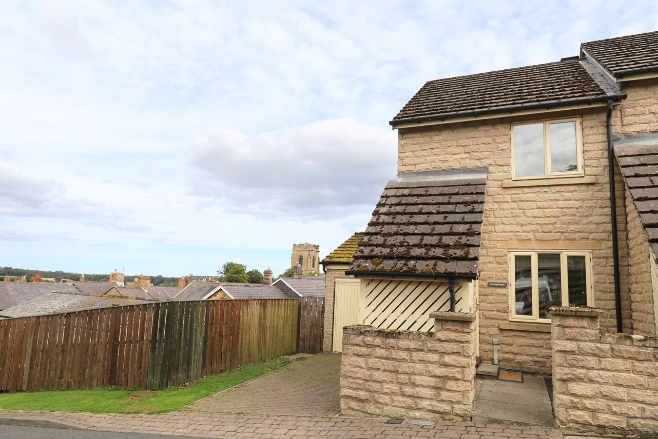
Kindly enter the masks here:
[[390, 121], [398, 176], [347, 269], [354, 323], [428, 331], [432, 311], [473, 312], [484, 361], [495, 339], [503, 369], [544, 374], [549, 305], [657, 335], [657, 113], [658, 32], [427, 82]]

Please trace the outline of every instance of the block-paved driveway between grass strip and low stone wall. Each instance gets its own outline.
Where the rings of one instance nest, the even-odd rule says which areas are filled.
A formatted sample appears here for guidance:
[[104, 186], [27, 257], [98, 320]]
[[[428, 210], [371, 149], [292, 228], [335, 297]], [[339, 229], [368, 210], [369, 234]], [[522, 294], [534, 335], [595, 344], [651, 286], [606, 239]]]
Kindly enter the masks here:
[[340, 353], [321, 353], [187, 407], [206, 413], [334, 416], [340, 411]]

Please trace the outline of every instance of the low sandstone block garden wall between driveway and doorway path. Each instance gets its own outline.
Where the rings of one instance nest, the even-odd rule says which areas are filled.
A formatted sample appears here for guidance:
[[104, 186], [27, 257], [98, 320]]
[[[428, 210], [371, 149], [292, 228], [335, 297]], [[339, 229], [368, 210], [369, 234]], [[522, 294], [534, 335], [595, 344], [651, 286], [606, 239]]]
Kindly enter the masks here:
[[470, 320], [436, 319], [434, 333], [346, 326], [342, 415], [470, 421], [476, 324], [460, 315]]

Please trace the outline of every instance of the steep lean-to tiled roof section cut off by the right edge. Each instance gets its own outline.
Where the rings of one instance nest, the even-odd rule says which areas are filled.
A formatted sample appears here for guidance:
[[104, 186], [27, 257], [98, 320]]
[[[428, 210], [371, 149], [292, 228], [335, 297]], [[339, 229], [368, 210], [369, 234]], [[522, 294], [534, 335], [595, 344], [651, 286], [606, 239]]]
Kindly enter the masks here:
[[658, 133], [613, 136], [613, 144], [649, 246], [658, 256]]

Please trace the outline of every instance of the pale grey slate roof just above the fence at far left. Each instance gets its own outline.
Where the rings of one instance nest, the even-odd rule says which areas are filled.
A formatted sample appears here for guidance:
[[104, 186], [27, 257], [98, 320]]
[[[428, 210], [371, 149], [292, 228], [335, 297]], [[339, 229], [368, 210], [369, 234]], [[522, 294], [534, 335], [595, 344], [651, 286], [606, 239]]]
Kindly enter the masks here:
[[30, 317], [34, 315], [69, 313], [85, 309], [151, 303], [145, 300], [122, 297], [84, 296], [82, 294], [46, 293], [11, 308], [0, 311], [3, 317]]

